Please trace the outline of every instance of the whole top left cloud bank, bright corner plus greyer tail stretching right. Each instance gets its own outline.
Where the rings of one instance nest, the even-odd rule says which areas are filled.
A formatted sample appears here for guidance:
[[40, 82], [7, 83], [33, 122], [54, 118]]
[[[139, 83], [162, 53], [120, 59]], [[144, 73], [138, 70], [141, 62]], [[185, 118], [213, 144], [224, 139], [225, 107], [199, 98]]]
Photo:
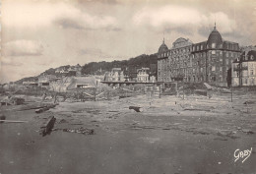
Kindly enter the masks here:
[[117, 28], [114, 17], [89, 14], [72, 3], [5, 2], [2, 13], [4, 27], [38, 29], [55, 24], [63, 29]]

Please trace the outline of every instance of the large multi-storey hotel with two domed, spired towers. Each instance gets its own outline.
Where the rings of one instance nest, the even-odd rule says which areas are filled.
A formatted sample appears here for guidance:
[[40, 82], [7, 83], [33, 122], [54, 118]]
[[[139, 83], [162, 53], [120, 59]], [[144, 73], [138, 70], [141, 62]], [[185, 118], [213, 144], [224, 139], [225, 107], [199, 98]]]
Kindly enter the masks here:
[[231, 64], [239, 55], [238, 43], [224, 40], [216, 26], [208, 40], [199, 43], [180, 37], [168, 49], [163, 38], [158, 52], [158, 82], [183, 80], [228, 86]]

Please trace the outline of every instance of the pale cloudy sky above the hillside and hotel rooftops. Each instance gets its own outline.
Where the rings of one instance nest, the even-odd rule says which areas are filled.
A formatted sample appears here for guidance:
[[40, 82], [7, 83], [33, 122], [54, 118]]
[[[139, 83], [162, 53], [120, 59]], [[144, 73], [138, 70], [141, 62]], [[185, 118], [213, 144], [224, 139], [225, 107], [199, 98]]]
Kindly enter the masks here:
[[255, 0], [2, 0], [0, 83], [49, 68], [124, 60], [179, 37], [256, 45]]

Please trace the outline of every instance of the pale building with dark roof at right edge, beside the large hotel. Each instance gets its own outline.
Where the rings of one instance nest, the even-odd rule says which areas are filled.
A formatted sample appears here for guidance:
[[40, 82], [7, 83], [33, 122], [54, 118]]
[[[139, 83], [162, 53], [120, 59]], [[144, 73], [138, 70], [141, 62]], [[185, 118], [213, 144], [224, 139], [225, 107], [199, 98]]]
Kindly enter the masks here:
[[232, 86], [256, 86], [256, 51], [243, 51], [232, 63]]

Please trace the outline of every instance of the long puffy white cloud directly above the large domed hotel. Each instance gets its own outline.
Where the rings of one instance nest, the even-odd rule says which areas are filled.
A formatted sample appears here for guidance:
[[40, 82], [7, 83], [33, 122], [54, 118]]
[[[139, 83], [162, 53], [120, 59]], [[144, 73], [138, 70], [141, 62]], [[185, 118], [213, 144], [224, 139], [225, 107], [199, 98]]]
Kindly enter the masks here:
[[133, 24], [137, 27], [148, 26], [158, 31], [192, 35], [198, 32], [206, 36], [217, 22], [222, 33], [229, 33], [236, 29], [236, 23], [224, 12], [203, 13], [188, 7], [165, 6], [160, 8], [147, 7], [133, 16]]

